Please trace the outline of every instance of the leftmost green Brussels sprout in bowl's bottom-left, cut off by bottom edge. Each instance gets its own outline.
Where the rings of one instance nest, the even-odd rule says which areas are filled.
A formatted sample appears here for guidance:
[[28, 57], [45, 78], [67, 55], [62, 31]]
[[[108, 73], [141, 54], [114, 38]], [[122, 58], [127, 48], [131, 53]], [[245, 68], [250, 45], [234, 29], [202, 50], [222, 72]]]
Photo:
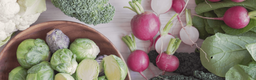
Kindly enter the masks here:
[[22, 66], [18, 66], [9, 73], [8, 80], [26, 80], [27, 75], [28, 70]]

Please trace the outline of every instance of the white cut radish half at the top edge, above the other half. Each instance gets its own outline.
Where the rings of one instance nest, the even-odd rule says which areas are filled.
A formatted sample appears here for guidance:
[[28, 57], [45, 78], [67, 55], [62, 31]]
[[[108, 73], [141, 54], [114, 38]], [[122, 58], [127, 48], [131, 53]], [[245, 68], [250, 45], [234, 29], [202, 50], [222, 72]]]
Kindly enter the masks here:
[[151, 9], [159, 17], [160, 14], [168, 12], [172, 8], [172, 0], [151, 0]]

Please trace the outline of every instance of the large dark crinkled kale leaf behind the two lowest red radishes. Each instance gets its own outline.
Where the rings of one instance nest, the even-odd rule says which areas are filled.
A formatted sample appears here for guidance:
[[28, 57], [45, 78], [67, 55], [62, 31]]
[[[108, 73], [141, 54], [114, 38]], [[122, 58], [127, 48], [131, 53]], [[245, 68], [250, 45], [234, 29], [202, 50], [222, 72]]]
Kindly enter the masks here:
[[[174, 73], [180, 73], [181, 75], [185, 76], [193, 76], [193, 72], [195, 70], [209, 73], [209, 71], [204, 68], [201, 63], [200, 53], [197, 48], [195, 50], [195, 53], [188, 54], [175, 52], [173, 55], [175, 55], [180, 62], [178, 69], [175, 70]], [[152, 50], [148, 53], [148, 56], [150, 62], [156, 66], [156, 57], [158, 56], [158, 53], [155, 50]]]

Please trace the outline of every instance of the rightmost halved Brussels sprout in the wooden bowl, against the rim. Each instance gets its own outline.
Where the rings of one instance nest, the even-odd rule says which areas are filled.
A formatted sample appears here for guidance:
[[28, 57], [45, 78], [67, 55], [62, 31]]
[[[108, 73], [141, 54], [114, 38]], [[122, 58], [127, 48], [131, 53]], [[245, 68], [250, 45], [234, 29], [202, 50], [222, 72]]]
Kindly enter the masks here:
[[102, 61], [104, 73], [108, 80], [124, 80], [128, 68], [121, 58], [115, 55], [109, 55]]

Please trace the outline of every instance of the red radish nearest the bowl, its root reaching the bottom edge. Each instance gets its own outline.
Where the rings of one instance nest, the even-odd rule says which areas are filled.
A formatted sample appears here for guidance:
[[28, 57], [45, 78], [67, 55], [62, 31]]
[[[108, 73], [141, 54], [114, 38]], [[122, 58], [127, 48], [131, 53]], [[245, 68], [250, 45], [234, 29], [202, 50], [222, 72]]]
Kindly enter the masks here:
[[148, 68], [149, 57], [145, 51], [136, 50], [137, 46], [133, 34], [132, 39], [128, 35], [122, 37], [123, 42], [131, 51], [131, 54], [127, 58], [127, 66], [130, 70], [139, 72], [145, 79], [148, 80], [148, 78], [142, 72]]

